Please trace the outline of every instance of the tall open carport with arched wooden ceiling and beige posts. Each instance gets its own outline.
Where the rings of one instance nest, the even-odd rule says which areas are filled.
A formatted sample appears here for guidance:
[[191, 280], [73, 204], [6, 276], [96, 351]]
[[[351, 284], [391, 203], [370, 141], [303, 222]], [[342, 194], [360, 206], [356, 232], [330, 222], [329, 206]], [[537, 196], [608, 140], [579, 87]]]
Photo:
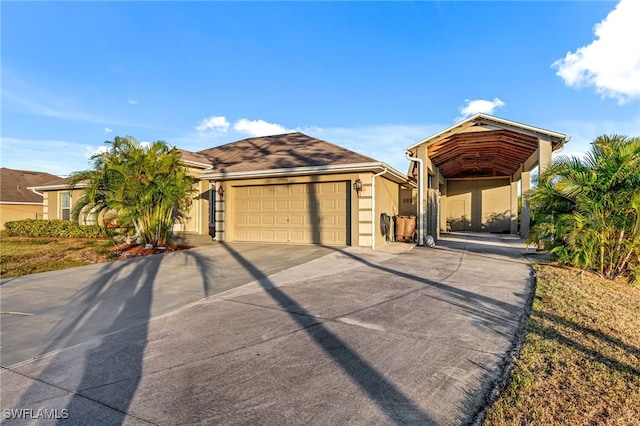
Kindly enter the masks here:
[[[456, 123], [407, 148], [418, 180], [418, 239], [440, 232], [529, 233], [530, 173], [544, 169], [569, 137], [486, 114]], [[518, 227], [518, 194], [522, 202]], [[420, 219], [422, 219], [420, 221]]]

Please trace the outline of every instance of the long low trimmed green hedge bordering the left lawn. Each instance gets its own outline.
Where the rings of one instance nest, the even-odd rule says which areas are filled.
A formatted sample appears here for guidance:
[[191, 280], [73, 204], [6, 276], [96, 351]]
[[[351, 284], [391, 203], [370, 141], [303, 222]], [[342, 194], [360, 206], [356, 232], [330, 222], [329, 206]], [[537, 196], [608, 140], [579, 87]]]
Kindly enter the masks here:
[[115, 235], [112, 229], [98, 225], [78, 225], [62, 219], [15, 220], [6, 222], [4, 227], [10, 237], [109, 238]]

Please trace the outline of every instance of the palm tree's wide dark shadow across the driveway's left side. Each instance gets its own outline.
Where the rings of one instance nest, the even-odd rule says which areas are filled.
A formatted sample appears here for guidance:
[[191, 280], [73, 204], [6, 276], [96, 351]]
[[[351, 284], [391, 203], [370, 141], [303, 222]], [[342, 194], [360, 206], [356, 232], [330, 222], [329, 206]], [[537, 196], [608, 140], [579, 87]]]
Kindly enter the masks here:
[[[199, 298], [208, 296], [215, 262], [197, 251], [183, 250], [180, 255], [185, 256], [185, 262], [193, 262], [201, 275]], [[76, 309], [61, 318], [40, 353], [60, 348], [60, 341], [66, 343], [63, 347], [83, 344], [73, 351], [54, 352], [26, 365], [7, 368], [33, 379], [14, 407], [34, 407], [34, 412], [42, 406], [66, 409], [69, 418], [59, 421], [65, 426], [122, 424], [140, 384], [154, 292], [158, 291], [158, 274], [166, 260], [167, 255], [154, 255], [111, 262], [100, 268], [97, 278], [69, 302]], [[134, 337], [118, 341], [120, 336], [115, 332], [129, 327]], [[43, 383], [50, 389], [66, 391], [65, 396], [43, 400]], [[106, 404], [90, 396], [92, 390], [113, 384], [113, 402]], [[51, 404], [57, 406], [49, 407]]]

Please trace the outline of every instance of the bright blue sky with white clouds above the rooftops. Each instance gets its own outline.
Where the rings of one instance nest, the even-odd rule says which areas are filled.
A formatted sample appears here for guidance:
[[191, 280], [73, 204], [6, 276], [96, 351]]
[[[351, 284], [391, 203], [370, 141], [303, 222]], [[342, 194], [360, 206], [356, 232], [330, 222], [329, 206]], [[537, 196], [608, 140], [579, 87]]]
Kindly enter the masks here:
[[305, 132], [402, 172], [475, 112], [640, 135], [640, 2], [2, 2], [3, 167]]

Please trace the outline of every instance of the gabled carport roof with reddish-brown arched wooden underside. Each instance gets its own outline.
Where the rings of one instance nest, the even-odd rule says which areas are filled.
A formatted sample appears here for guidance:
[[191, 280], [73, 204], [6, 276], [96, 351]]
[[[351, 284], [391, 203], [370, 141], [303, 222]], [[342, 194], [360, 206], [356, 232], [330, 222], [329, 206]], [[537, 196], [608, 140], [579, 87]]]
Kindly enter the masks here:
[[427, 156], [445, 178], [511, 176], [538, 149], [538, 140], [557, 150], [569, 138], [486, 114], [477, 114], [437, 133], [409, 150], [426, 144]]

